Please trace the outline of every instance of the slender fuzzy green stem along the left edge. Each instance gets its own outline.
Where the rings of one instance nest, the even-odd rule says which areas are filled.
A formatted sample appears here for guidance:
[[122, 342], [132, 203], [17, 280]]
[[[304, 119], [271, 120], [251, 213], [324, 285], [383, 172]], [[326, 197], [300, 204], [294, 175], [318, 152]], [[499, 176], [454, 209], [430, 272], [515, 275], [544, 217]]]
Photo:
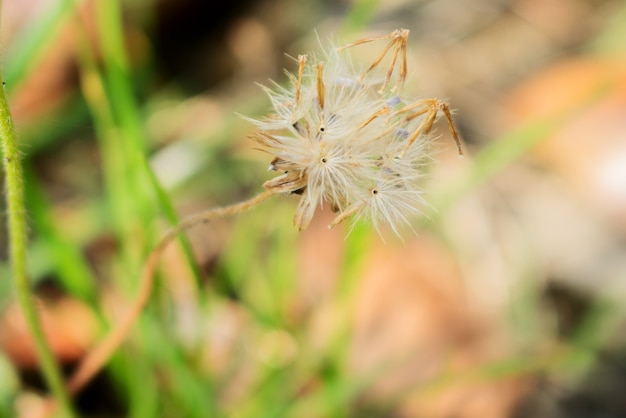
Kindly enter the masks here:
[[[2, 2], [0, 1], [0, 8]], [[46, 342], [35, 298], [33, 297], [26, 268], [27, 226], [24, 199], [24, 172], [15, 135], [15, 126], [0, 74], [0, 142], [3, 151], [3, 167], [6, 180], [6, 200], [10, 262], [17, 299], [24, 313], [28, 329], [33, 337], [37, 357], [50, 391], [61, 405], [64, 416], [74, 416], [70, 398], [61, 370]]]

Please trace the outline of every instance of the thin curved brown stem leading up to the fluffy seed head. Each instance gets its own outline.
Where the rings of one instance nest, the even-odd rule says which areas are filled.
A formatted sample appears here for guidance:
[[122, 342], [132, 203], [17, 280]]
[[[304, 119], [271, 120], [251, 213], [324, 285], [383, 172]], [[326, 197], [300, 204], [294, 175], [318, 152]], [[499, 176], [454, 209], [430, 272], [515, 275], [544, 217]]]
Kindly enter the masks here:
[[76, 369], [76, 372], [69, 380], [67, 386], [68, 391], [71, 394], [75, 394], [80, 391], [85, 384], [87, 384], [87, 382], [95, 376], [102, 366], [106, 364], [108, 359], [122, 344], [132, 326], [137, 321], [137, 318], [139, 318], [139, 315], [143, 311], [146, 303], [148, 303], [154, 286], [154, 273], [163, 251], [172, 241], [174, 241], [178, 234], [188, 230], [194, 225], [206, 223], [216, 218], [241, 213], [252, 208], [253, 206], [256, 206], [264, 200], [267, 200], [273, 194], [273, 192], [264, 191], [252, 199], [236, 203], [231, 206], [214, 208], [192, 215], [191, 217], [182, 220], [174, 229], [170, 230], [163, 238], [161, 238], [159, 243], [150, 252], [148, 259], [144, 264], [137, 296], [129, 311], [126, 313], [126, 316], [119, 322], [119, 325], [112, 329], [111, 332], [81, 361]]

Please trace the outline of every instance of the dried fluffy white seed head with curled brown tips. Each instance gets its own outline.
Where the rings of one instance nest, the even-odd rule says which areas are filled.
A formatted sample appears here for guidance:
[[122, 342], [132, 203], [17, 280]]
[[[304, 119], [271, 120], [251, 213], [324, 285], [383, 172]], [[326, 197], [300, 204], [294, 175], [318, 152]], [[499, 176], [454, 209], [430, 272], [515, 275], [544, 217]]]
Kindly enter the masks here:
[[[398, 233], [399, 224], [410, 226], [409, 217], [425, 204], [419, 182], [430, 160], [427, 134], [439, 111], [461, 152], [448, 105], [410, 101], [402, 93], [408, 34], [402, 29], [362, 39], [327, 52], [319, 62], [301, 55], [297, 73], [287, 73], [289, 87], [264, 87], [273, 113], [249, 120], [259, 128], [253, 138], [274, 156], [270, 170], [280, 174], [263, 186], [301, 195], [294, 217], [299, 230], [324, 204], [338, 213], [330, 227], [351, 216], [370, 220], [377, 230], [388, 224]], [[355, 69], [344, 52], [385, 39], [389, 43], [365, 70]], [[381, 74], [387, 55], [390, 63]]]

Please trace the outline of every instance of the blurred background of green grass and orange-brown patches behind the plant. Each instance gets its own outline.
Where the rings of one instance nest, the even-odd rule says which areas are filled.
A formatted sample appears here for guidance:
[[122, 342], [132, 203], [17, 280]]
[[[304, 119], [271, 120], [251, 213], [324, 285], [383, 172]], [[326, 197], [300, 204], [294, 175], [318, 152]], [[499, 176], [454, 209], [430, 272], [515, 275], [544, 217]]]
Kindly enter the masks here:
[[[403, 240], [326, 211], [298, 233], [293, 196], [192, 229], [81, 416], [626, 417], [624, 2], [3, 3], [29, 272], [67, 373], [168, 227], [272, 176], [236, 114], [265, 114], [255, 83], [290, 57], [410, 29], [408, 90], [449, 101], [464, 139], [459, 157], [439, 124]], [[0, 416], [35, 416], [6, 245]]]

